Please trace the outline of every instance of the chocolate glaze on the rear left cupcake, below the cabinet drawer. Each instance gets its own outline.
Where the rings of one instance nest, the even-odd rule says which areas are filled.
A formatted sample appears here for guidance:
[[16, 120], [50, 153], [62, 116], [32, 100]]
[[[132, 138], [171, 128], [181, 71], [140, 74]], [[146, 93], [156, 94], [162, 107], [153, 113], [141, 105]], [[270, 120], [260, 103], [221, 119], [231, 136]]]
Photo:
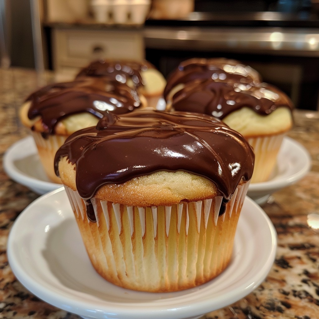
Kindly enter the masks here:
[[132, 80], [134, 86], [144, 85], [141, 76], [142, 71], [154, 68], [151, 63], [130, 60], [98, 60], [80, 70], [76, 78], [105, 77], [108, 80], [127, 83]]

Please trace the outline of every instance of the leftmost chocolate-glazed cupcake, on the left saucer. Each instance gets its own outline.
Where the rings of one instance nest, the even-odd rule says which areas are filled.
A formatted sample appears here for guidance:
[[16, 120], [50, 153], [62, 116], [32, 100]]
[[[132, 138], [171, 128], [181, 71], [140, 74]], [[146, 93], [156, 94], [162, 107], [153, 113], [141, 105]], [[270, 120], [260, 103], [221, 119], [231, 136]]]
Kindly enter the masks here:
[[34, 137], [48, 178], [61, 183], [54, 172], [53, 160], [66, 137], [96, 125], [106, 112], [121, 114], [144, 107], [143, 99], [134, 89], [116, 81], [85, 79], [55, 83], [26, 98], [20, 119]]

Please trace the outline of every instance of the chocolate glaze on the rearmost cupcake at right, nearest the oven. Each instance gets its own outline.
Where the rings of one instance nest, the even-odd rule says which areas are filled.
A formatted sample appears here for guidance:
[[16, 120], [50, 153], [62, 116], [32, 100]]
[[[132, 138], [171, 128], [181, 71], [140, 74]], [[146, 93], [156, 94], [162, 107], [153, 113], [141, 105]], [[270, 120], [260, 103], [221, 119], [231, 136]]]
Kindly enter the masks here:
[[214, 79], [226, 83], [261, 83], [259, 73], [241, 62], [226, 58], [199, 59], [193, 58], [183, 61], [170, 74], [164, 89], [164, 99], [178, 84], [187, 84], [194, 80]]

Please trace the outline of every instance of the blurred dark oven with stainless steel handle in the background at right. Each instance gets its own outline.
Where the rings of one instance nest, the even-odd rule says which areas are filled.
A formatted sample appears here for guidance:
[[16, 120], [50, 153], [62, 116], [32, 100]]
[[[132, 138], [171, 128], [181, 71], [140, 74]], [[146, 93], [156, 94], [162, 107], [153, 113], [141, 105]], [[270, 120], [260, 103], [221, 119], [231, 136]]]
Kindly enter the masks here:
[[277, 85], [297, 108], [318, 109], [319, 20], [316, 14], [192, 12], [187, 19], [148, 20], [146, 59], [165, 76], [191, 57], [229, 57]]

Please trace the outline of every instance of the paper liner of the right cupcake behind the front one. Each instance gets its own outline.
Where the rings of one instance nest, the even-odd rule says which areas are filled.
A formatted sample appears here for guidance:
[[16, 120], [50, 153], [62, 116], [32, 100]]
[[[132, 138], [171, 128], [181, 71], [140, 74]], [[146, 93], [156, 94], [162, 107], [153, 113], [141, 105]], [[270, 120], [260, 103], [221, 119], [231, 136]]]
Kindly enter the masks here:
[[255, 153], [252, 183], [266, 182], [271, 178], [277, 162], [277, 155], [285, 134], [247, 138]]

